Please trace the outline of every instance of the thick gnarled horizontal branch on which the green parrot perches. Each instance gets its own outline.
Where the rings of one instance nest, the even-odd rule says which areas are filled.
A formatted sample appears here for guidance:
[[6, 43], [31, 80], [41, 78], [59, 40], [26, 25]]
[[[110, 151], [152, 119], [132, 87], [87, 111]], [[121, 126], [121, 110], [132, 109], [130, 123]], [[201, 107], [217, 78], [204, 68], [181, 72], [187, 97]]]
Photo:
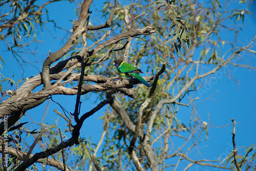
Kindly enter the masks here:
[[[150, 81], [155, 76], [147, 76], [144, 77], [146, 81]], [[130, 88], [133, 84], [139, 83], [136, 79], [129, 79], [124, 81], [108, 81], [103, 84], [95, 84], [95, 85], [82, 85], [81, 95], [86, 94], [91, 91], [107, 91], [107, 90], [120, 90], [126, 95], [131, 97], [135, 96], [135, 92], [130, 91], [129, 89], [125, 89], [124, 87]], [[12, 103], [4, 104], [5, 107], [2, 106], [0, 108], [0, 118], [3, 118], [4, 115], [11, 115], [8, 118], [8, 128], [12, 127], [16, 121], [22, 117], [25, 112], [29, 109], [32, 109], [42, 102], [44, 102], [50, 95], [55, 94], [63, 94], [63, 95], [76, 95], [77, 88], [67, 88], [62, 86], [56, 86], [48, 90], [41, 90], [30, 94], [22, 99], [14, 100]], [[4, 123], [0, 124], [0, 134], [4, 132]]]

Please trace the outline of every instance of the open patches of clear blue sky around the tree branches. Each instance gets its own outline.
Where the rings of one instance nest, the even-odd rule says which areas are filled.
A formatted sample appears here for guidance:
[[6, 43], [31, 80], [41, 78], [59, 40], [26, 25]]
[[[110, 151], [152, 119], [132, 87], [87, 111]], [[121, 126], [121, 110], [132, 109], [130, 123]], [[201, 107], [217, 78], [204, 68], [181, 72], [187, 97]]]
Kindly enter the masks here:
[[[100, 8], [100, 2], [101, 1], [94, 1], [94, 5]], [[56, 4], [58, 4], [58, 8], [55, 7]], [[71, 30], [73, 25], [69, 20], [76, 18], [74, 14], [75, 7], [75, 5], [70, 5], [70, 3], [68, 2], [54, 3], [53, 5], [50, 5], [50, 8], [48, 8], [50, 19], [55, 19], [59, 27]], [[255, 7], [256, 6], [254, 3], [254, 5], [250, 8], [250, 12], [253, 15], [245, 17], [244, 28], [243, 31], [240, 32], [239, 36], [241, 45], [242, 43], [248, 43], [256, 35]], [[60, 13], [61, 15], [59, 15]], [[52, 28], [53, 25], [50, 24], [49, 29]], [[56, 37], [64, 36], [64, 33], [62, 31], [58, 31], [57, 33], [53, 32], [53, 34]], [[38, 53], [38, 59], [42, 62], [49, 54], [49, 50], [51, 50], [51, 52], [55, 52], [63, 45], [63, 42], [60, 42], [59, 39], [53, 38], [48, 31], [40, 33], [40, 36], [43, 38], [44, 43], [39, 43], [37, 51], [40, 52]], [[2, 44], [0, 44], [0, 46], [3, 46], [3, 42], [1, 43]], [[254, 43], [253, 46], [255, 47], [256, 43]], [[3, 65], [2, 74], [4, 74], [5, 77], [11, 77], [11, 75], [14, 73], [13, 80], [17, 82], [17, 80], [22, 77], [22, 71], [17, 68], [17, 61], [8, 52], [1, 52], [1, 56], [4, 58], [6, 63], [6, 65]], [[29, 60], [33, 59], [32, 56], [26, 57]], [[247, 56], [245, 56], [245, 58], [246, 57]], [[255, 55], [251, 56], [250, 61], [253, 66], [256, 66]], [[35, 65], [41, 69], [42, 63], [35, 63]], [[30, 76], [34, 76], [38, 73], [38, 70], [33, 67], [24, 69], [24, 78], [29, 78]], [[250, 146], [252, 143], [256, 142], [256, 73], [255, 71], [249, 70], [247, 68], [238, 68], [234, 72], [233, 77], [236, 78], [237, 81], [239, 81], [239, 85], [236, 84], [232, 79], [228, 78], [224, 74], [224, 72], [219, 71], [218, 77], [215, 79], [215, 82], [207, 83], [205, 87], [202, 87], [202, 91], [200, 91], [204, 93], [198, 94], [201, 100], [210, 97], [209, 100], [203, 102], [201, 102], [201, 100], [198, 101], [201, 103], [198, 105], [197, 112], [201, 116], [202, 120], [208, 121], [209, 113], [210, 125], [220, 127], [230, 124], [224, 128], [209, 128], [210, 139], [202, 143], [202, 146], [204, 146], [205, 149], [201, 149], [202, 155], [207, 159], [218, 159], [219, 156], [221, 156], [221, 159], [223, 159], [229, 153], [231, 153], [231, 118], [234, 118], [237, 121], [237, 148], [244, 145]], [[53, 99], [61, 105], [65, 106], [68, 111], [74, 111], [76, 96], [65, 96], [65, 98], [63, 98], [63, 96], [56, 95], [53, 96]], [[91, 110], [98, 104], [94, 103], [95, 99], [90, 99], [89, 101], [85, 102], [84, 97], [81, 98], [81, 101], [81, 113], [85, 113]], [[28, 111], [28, 114], [30, 115], [30, 117], [40, 123], [46, 105], [47, 102], [35, 109]], [[47, 113], [46, 122], [54, 123], [54, 120], [56, 120], [56, 115], [55, 112], [53, 112], [53, 109], [61, 111], [58, 106], [51, 102]], [[97, 144], [102, 132], [102, 120], [98, 120], [97, 118], [103, 115], [104, 109], [106, 109], [106, 107], [99, 110], [96, 114], [89, 117], [85, 121], [82, 127], [83, 132], [80, 133], [81, 137], [84, 136], [84, 138], [88, 139], [91, 136], [91, 142]], [[188, 120], [190, 118], [191, 109], [191, 107], [181, 108], [179, 110], [179, 114], [182, 114], [182, 117], [180, 117], [179, 119], [184, 122], [185, 120]], [[22, 121], [29, 121], [29, 119], [25, 116], [23, 117]], [[66, 129], [66, 127], [63, 127], [62, 123], [65, 123], [65, 121], [60, 118], [57, 123], [58, 127]], [[207, 170], [207, 168], [203, 168], [203, 170]]]

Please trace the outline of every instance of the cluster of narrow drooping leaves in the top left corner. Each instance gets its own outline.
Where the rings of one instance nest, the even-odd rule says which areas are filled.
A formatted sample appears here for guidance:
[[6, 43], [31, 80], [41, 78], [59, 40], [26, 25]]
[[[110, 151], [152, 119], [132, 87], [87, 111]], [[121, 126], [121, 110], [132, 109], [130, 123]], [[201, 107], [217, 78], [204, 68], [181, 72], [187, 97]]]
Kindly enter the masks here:
[[[37, 37], [48, 29], [47, 23], [53, 23], [55, 28], [59, 28], [54, 20], [49, 19], [47, 9], [49, 4], [58, 1], [62, 0], [49, 1], [44, 4], [34, 4], [35, 1], [1, 1], [0, 8], [4, 13], [0, 15], [0, 41], [5, 42], [7, 45], [5, 51], [12, 53], [21, 69], [27, 65], [38, 67], [32, 61], [27, 60], [26, 55], [36, 57], [35, 62], [40, 62], [36, 48], [38, 42], [42, 43], [42, 40]], [[44, 20], [43, 16], [47, 20]], [[0, 59], [4, 63], [1, 56]], [[1, 64], [0, 67], [2, 68]]]

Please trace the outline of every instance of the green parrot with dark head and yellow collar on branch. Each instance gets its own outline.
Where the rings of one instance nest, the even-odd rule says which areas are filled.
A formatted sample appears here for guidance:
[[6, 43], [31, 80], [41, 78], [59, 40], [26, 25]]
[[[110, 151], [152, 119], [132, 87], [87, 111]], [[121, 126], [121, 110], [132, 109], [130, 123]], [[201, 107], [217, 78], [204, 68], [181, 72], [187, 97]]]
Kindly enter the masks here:
[[129, 77], [129, 78], [135, 78], [142, 84], [144, 84], [147, 87], [150, 87], [150, 84], [144, 80], [139, 73], [143, 73], [140, 69], [134, 67], [133, 65], [126, 63], [120, 59], [114, 60], [113, 65], [117, 67], [117, 70], [121, 73], [122, 78]]

